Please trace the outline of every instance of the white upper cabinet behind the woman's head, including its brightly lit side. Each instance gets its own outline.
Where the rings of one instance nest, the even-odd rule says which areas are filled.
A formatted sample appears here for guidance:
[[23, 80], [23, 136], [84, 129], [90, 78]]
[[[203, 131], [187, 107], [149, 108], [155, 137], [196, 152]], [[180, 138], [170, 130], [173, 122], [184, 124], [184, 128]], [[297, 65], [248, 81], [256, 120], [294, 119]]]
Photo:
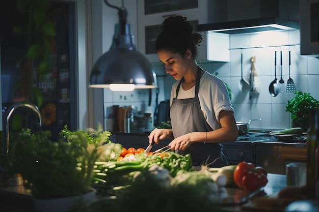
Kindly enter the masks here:
[[[151, 63], [159, 63], [157, 54], [154, 50], [155, 40], [160, 31], [162, 22], [173, 15], [181, 15], [187, 17], [194, 28], [197, 24], [203, 24], [211, 22], [212, 13], [211, 8], [214, 1], [209, 0], [139, 0], [138, 3], [138, 49], [141, 53], [145, 54], [147, 59]], [[202, 61], [223, 61], [229, 62], [229, 40], [223, 36], [221, 39], [216, 39], [216, 44], [208, 43], [207, 33], [201, 32], [203, 35], [203, 42], [199, 47], [198, 59]], [[224, 42], [224, 41], [227, 42]], [[223, 41], [223, 42], [221, 42]], [[223, 45], [225, 44], [225, 45]], [[215, 47], [215, 52], [228, 52], [225, 58], [221, 58], [220, 54], [217, 54], [217, 58], [214, 58], [214, 54], [211, 51], [209, 55], [209, 49]]]

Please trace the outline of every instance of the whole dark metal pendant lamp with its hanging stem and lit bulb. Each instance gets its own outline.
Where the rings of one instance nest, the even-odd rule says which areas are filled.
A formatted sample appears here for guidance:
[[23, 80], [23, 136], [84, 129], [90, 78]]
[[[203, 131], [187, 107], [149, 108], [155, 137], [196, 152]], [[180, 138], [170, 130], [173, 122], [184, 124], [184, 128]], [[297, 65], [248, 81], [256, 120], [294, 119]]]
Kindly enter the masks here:
[[107, 0], [104, 2], [118, 10], [119, 23], [115, 25], [110, 50], [100, 56], [93, 66], [89, 87], [127, 91], [156, 88], [156, 75], [150, 62], [136, 50], [126, 9], [110, 5]]

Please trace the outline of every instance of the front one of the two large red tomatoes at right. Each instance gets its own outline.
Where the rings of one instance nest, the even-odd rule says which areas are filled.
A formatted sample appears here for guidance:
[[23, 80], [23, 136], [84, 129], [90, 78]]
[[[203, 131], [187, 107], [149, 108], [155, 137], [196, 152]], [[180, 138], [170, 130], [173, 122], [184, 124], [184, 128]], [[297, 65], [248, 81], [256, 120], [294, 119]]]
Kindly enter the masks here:
[[259, 174], [257, 172], [249, 171], [243, 177], [242, 186], [245, 190], [253, 192], [268, 183], [268, 179], [264, 174]]

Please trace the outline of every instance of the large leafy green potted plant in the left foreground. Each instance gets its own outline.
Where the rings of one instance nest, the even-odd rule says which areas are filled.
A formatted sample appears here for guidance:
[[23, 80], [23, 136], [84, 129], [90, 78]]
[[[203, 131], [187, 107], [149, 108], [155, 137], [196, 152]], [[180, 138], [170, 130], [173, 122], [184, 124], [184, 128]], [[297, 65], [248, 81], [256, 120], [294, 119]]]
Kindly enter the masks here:
[[[91, 194], [95, 198], [95, 189], [91, 187], [94, 163], [105, 152], [105, 143], [110, 143], [108, 131], [95, 131], [91, 134], [83, 130], [71, 132], [67, 126], [60, 132], [59, 141], [51, 141], [50, 131], [23, 129], [11, 137], [11, 148], [5, 163], [1, 164], [10, 173], [20, 173], [25, 189], [30, 189], [32, 197], [42, 206], [54, 205], [50, 210], [63, 211], [58, 199], [64, 200], [70, 207], [70, 198]], [[63, 139], [65, 138], [65, 139]], [[92, 200], [93, 200], [92, 199]], [[79, 199], [74, 199], [78, 201]], [[37, 207], [40, 211], [46, 210]], [[67, 210], [67, 209], [66, 209]]]

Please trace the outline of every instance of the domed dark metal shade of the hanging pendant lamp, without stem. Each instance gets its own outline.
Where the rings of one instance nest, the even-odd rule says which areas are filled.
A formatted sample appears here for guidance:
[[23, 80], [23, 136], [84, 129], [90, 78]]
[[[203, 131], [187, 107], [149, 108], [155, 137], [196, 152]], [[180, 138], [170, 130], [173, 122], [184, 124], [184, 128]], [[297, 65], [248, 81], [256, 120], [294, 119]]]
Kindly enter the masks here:
[[110, 49], [95, 63], [89, 87], [135, 84], [135, 88], [155, 88], [156, 75], [145, 56], [129, 49]]

